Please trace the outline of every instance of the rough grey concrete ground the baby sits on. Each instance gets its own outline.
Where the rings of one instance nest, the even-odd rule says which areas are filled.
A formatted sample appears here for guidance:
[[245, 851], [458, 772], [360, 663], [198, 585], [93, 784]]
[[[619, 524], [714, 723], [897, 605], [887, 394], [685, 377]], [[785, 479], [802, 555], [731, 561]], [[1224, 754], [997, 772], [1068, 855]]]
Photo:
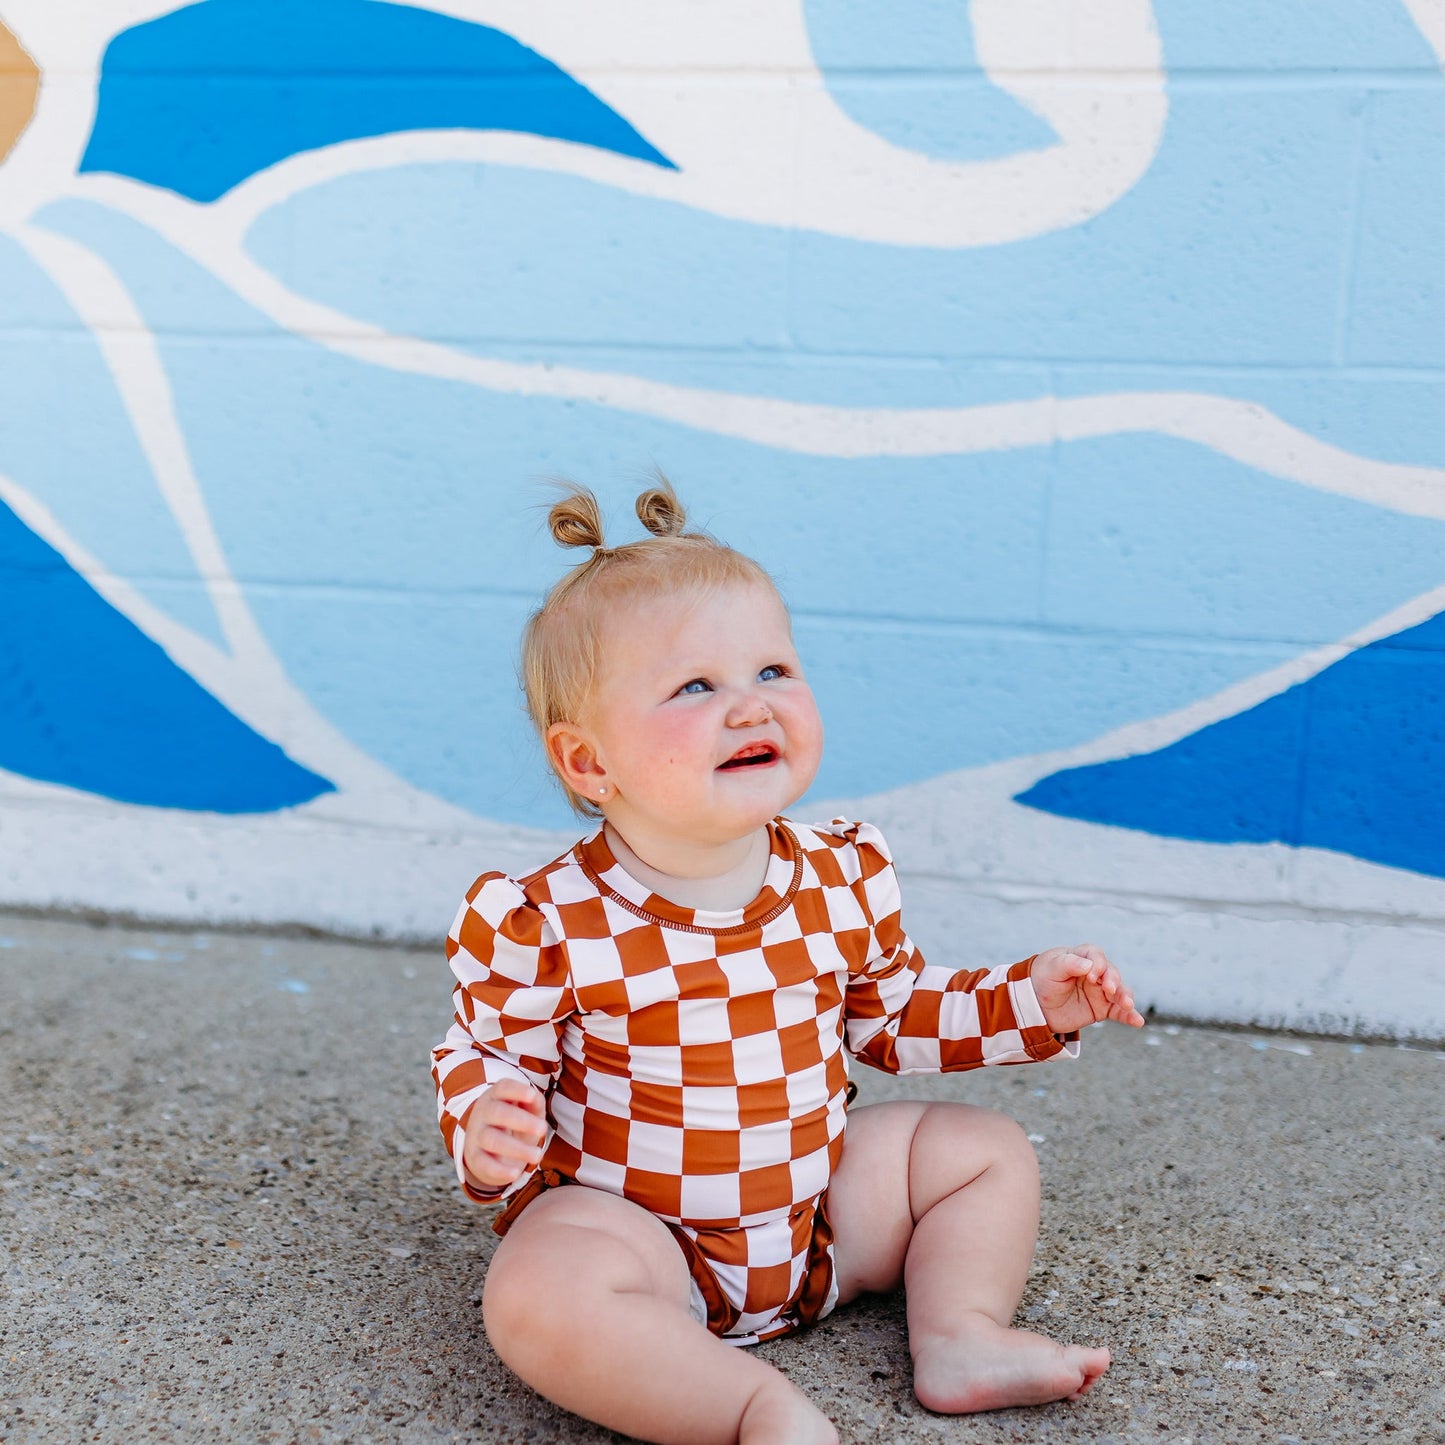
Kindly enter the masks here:
[[[0, 1439], [616, 1441], [497, 1363], [439, 951], [0, 918]], [[1445, 1441], [1445, 1055], [1156, 1026], [893, 1081], [1035, 1136], [1075, 1405], [946, 1419], [896, 1298], [763, 1347], [844, 1441]], [[565, 1299], [555, 1308], [566, 1309]]]

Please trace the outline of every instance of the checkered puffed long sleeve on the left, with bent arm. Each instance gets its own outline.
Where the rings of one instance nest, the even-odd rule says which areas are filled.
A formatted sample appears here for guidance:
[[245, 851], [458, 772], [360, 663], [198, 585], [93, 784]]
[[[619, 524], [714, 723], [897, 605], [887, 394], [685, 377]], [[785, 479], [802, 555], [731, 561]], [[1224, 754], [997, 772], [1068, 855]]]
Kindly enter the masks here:
[[474, 1188], [462, 1168], [462, 1121], [499, 1079], [520, 1079], [543, 1094], [551, 1088], [562, 1027], [575, 1012], [566, 949], [516, 883], [488, 873], [458, 910], [447, 957], [457, 975], [455, 1017], [432, 1049], [436, 1116], [462, 1189], [494, 1201], [520, 1189], [530, 1172], [491, 1194]]

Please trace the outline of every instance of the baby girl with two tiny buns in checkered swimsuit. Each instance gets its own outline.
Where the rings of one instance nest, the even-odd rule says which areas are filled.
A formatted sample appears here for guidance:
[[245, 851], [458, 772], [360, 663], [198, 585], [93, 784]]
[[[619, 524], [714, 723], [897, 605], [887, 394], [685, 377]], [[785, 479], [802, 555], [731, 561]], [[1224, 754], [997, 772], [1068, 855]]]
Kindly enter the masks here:
[[835, 1441], [737, 1345], [868, 1290], [906, 1295], [913, 1392], [961, 1413], [1082, 1394], [1108, 1351], [1012, 1328], [1039, 1176], [1010, 1118], [850, 1107], [890, 1074], [1078, 1053], [1142, 1025], [1092, 945], [961, 972], [926, 964], [887, 845], [799, 824], [822, 724], [769, 575], [683, 530], [603, 542], [591, 493], [551, 512], [591, 555], [532, 617], [527, 707], [595, 827], [523, 879], [487, 873], [448, 939], [434, 1052], [461, 1185], [504, 1201], [483, 1315], [549, 1400], [681, 1445]]

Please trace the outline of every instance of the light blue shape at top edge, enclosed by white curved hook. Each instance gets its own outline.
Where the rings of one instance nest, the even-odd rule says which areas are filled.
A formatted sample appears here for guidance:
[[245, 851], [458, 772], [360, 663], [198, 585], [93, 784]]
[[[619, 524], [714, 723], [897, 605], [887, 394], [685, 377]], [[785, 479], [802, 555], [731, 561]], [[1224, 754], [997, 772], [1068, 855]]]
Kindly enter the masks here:
[[959, 0], [806, 0], [808, 40], [828, 92], [860, 126], [923, 155], [987, 160], [1058, 143], [1000, 90], [974, 51]]

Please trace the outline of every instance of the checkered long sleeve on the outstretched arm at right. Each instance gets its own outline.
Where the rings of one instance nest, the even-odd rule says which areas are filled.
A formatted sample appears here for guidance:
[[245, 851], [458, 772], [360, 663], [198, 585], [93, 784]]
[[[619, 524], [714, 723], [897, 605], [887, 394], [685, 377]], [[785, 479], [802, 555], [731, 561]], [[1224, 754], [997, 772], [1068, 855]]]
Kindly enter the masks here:
[[1032, 958], [1000, 968], [955, 971], [923, 961], [903, 931], [897, 874], [881, 834], [850, 829], [863, 912], [871, 929], [868, 962], [848, 981], [848, 1052], [889, 1074], [972, 1069], [1078, 1055], [1077, 1038], [1048, 1026], [1029, 978]]

